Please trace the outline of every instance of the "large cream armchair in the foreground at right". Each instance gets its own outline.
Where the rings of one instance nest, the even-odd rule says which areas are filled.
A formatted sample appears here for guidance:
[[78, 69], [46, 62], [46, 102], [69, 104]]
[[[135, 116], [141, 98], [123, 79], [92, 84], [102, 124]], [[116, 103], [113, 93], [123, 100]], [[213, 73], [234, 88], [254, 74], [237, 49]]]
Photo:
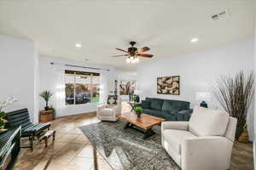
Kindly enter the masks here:
[[189, 122], [162, 122], [161, 143], [183, 170], [225, 170], [236, 133], [236, 118], [196, 106]]

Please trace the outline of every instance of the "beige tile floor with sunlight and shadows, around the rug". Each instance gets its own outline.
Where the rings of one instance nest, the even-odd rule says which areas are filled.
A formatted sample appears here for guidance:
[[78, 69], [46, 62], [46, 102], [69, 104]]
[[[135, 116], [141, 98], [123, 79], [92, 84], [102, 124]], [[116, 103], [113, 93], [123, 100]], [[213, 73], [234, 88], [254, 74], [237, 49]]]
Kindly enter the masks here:
[[[130, 109], [129, 105], [124, 104], [123, 111]], [[96, 122], [96, 113], [55, 119], [51, 124], [51, 128], [56, 130], [55, 143], [51, 143], [49, 139], [48, 148], [44, 148], [43, 141], [36, 141], [33, 151], [21, 149], [15, 170], [113, 170], [108, 162], [93, 150], [89, 140], [79, 129], [80, 126]], [[25, 140], [22, 144], [28, 143]], [[93, 151], [96, 151], [96, 157]], [[94, 158], [98, 169], [94, 168]], [[253, 144], [234, 144], [230, 169], [253, 170]]]

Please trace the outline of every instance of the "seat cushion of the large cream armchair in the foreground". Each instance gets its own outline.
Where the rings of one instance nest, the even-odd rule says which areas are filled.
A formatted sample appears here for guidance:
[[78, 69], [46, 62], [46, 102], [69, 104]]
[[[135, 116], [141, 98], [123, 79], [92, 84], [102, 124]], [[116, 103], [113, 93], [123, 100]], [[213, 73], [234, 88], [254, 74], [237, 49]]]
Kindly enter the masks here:
[[172, 148], [181, 155], [181, 144], [184, 139], [196, 138], [195, 134], [189, 131], [166, 129], [163, 131], [163, 137]]

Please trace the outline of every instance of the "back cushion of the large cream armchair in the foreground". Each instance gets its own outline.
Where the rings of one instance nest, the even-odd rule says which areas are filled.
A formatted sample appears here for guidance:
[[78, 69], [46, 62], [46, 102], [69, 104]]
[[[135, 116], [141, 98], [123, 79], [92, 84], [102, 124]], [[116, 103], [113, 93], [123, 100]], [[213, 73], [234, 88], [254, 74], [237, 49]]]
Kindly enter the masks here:
[[224, 111], [195, 106], [189, 120], [189, 131], [198, 136], [223, 136], [229, 117]]

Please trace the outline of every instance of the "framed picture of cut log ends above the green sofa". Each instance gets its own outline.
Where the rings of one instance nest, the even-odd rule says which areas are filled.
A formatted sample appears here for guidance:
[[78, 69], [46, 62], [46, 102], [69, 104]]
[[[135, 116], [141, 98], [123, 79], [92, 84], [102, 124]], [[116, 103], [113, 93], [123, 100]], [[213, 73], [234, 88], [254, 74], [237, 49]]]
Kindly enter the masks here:
[[179, 76], [157, 78], [157, 94], [179, 95], [179, 87]]

